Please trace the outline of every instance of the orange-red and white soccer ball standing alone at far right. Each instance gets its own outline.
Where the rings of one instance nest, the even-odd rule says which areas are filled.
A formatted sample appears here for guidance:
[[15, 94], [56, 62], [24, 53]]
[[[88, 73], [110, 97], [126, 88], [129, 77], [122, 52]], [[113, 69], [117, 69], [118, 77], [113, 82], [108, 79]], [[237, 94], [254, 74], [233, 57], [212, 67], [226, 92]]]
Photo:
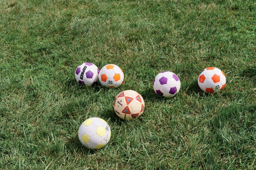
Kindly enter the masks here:
[[200, 89], [204, 92], [218, 92], [225, 87], [226, 76], [220, 69], [208, 67], [200, 73], [197, 82]]

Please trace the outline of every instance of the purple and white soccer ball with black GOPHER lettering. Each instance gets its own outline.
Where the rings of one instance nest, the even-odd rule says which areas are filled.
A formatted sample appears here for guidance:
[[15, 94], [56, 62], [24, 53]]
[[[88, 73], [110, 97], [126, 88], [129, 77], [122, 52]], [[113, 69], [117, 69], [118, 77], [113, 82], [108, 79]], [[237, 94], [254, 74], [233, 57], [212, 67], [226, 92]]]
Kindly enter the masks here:
[[98, 80], [99, 69], [92, 63], [83, 63], [77, 67], [75, 78], [79, 84], [92, 85]]

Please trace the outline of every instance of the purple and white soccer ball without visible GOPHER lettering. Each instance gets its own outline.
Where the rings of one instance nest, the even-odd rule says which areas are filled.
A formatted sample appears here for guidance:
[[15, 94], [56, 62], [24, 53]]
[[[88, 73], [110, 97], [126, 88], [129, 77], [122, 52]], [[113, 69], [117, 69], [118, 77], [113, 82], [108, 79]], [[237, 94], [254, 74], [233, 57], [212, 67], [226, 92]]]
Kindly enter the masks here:
[[173, 97], [179, 92], [180, 81], [176, 74], [170, 71], [163, 71], [155, 77], [153, 88], [159, 95]]

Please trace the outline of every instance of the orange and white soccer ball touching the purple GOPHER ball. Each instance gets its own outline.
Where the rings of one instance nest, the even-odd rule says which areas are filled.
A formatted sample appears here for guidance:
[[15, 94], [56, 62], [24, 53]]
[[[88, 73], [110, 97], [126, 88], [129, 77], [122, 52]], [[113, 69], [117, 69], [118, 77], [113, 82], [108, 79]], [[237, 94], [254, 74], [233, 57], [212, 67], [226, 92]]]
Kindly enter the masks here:
[[118, 87], [124, 81], [123, 70], [115, 64], [108, 64], [99, 72], [99, 82], [105, 87]]

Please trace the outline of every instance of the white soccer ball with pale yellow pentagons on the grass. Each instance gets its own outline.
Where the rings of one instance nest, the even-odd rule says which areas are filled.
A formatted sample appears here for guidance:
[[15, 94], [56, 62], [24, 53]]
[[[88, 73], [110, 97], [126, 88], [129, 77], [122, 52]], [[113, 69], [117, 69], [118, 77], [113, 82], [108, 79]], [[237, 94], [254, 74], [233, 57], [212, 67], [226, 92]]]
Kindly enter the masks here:
[[78, 130], [80, 142], [88, 149], [100, 149], [110, 139], [111, 131], [108, 123], [100, 118], [85, 120]]

